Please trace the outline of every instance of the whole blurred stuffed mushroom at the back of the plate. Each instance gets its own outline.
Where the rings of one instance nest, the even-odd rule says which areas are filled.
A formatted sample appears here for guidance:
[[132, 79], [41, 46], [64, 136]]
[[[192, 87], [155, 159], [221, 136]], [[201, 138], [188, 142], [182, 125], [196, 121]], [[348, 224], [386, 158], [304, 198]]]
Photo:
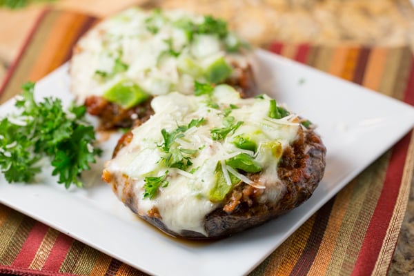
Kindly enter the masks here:
[[182, 10], [130, 8], [84, 35], [70, 61], [72, 92], [101, 128], [126, 128], [150, 115], [150, 99], [193, 92], [194, 81], [255, 86], [247, 44], [225, 21]]

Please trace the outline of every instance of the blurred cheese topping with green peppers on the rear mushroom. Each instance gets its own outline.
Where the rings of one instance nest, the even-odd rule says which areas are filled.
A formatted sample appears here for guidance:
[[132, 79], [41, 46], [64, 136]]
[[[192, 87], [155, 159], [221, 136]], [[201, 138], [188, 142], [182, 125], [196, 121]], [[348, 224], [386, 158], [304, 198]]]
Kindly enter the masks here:
[[72, 90], [80, 103], [90, 95], [105, 97], [125, 81], [148, 95], [190, 94], [195, 80], [220, 83], [237, 74], [232, 64], [246, 68], [245, 45], [220, 19], [130, 8], [80, 39], [71, 62]]

